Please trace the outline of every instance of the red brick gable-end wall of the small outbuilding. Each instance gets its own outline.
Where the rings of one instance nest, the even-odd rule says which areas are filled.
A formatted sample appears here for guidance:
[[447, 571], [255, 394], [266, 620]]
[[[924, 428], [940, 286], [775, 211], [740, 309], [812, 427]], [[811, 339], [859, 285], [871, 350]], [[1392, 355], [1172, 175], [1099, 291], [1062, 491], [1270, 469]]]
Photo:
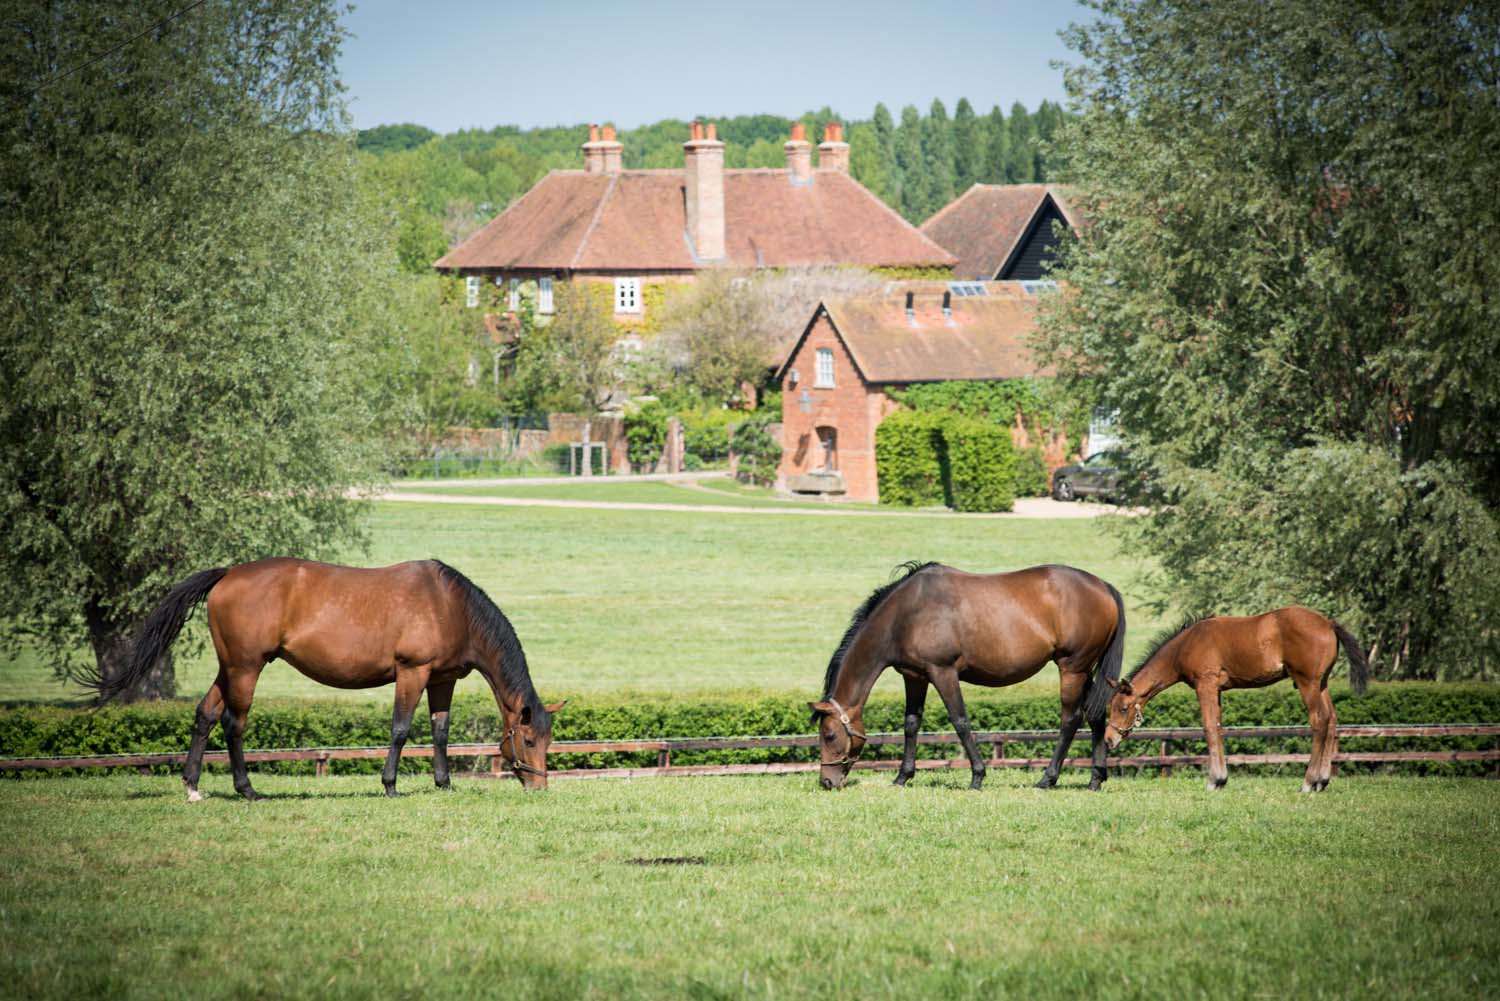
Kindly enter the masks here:
[[[819, 389], [818, 348], [834, 353], [834, 386]], [[792, 369], [798, 381], [792, 386]], [[804, 398], [806, 393], [806, 398]], [[806, 405], [806, 411], [804, 411]], [[782, 465], [777, 479], [812, 473], [824, 465], [824, 449], [818, 428], [831, 426], [838, 434], [837, 468], [844, 477], [850, 500], [879, 498], [874, 474], [874, 429], [896, 410], [880, 389], [867, 386], [855, 369], [854, 359], [834, 333], [828, 314], [820, 314], [796, 348], [788, 374], [782, 380]]]

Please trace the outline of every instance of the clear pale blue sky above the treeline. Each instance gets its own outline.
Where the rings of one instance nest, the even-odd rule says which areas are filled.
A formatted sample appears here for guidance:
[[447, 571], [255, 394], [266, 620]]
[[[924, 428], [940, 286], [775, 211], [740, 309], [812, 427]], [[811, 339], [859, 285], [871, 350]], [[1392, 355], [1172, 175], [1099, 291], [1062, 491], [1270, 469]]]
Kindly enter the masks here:
[[882, 101], [926, 114], [933, 98], [982, 114], [1062, 101], [1058, 32], [1088, 15], [1072, 0], [357, 0], [340, 68], [362, 129], [633, 128], [824, 105], [866, 119]]

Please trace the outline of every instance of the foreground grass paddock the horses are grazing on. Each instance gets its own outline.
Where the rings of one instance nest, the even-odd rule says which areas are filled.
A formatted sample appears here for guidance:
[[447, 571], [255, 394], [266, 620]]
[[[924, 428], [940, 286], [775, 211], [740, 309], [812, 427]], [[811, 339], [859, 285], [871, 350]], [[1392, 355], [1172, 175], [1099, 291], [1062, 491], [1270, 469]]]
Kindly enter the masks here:
[[[1484, 998], [1500, 783], [0, 782], [26, 998]], [[687, 857], [702, 864], [632, 864]]]

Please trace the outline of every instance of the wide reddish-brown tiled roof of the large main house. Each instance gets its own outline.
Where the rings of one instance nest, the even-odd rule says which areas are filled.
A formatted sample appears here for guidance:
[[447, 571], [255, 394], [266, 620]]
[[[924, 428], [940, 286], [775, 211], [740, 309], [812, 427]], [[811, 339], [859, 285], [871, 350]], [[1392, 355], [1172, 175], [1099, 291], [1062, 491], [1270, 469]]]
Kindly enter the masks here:
[[[724, 243], [736, 267], [948, 267], [954, 257], [840, 171], [724, 171]], [[716, 261], [717, 263], [717, 261]], [[434, 267], [694, 270], [681, 170], [552, 171]]]

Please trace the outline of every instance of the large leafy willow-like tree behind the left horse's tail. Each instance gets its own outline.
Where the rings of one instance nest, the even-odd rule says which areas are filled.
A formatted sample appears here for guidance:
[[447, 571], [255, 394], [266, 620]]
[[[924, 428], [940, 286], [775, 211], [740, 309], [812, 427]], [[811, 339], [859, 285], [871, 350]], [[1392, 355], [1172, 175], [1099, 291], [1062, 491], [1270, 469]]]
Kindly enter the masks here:
[[8, 33], [0, 632], [110, 678], [186, 573], [360, 540], [388, 252], [333, 3], [38, 2]]

